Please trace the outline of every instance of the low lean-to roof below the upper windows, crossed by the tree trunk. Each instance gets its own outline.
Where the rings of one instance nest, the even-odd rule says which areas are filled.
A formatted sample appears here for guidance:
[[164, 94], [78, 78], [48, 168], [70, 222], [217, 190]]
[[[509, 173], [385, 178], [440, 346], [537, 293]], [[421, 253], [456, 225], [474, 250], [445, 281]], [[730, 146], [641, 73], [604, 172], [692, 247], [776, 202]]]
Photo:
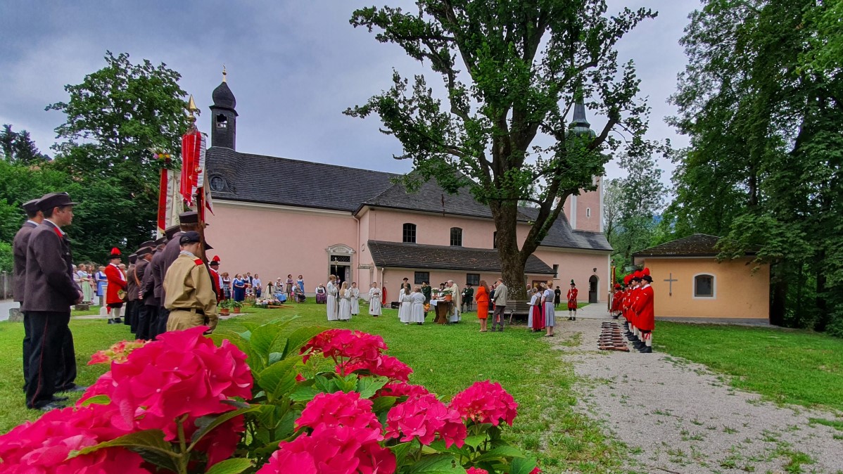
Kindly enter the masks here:
[[[497, 250], [489, 248], [448, 247], [416, 243], [383, 242], [367, 243], [374, 264], [378, 267], [410, 269], [469, 270], [498, 273], [501, 259]], [[553, 274], [545, 262], [530, 255], [524, 267], [527, 274]]]

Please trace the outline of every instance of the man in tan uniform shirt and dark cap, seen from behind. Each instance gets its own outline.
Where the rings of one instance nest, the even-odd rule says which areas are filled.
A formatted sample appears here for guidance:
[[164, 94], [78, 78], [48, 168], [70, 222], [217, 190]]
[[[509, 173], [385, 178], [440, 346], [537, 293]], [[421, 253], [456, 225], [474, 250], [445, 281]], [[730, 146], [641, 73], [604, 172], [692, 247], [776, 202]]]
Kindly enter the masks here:
[[179, 258], [164, 276], [164, 307], [169, 310], [168, 331], [205, 326], [217, 328], [217, 295], [211, 275], [199, 253], [199, 232], [185, 232], [179, 239]]

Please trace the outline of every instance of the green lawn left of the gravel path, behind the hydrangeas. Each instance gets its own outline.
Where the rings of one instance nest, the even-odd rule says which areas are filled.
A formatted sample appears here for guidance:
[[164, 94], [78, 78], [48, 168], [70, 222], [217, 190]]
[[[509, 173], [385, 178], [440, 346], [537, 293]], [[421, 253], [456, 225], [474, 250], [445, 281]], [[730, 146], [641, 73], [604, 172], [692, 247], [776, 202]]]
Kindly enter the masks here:
[[[362, 306], [366, 312], [366, 306]], [[450, 397], [474, 381], [500, 381], [519, 403], [518, 418], [507, 433], [512, 441], [533, 451], [545, 472], [614, 471], [620, 465], [623, 448], [606, 439], [597, 425], [574, 413], [572, 365], [560, 359], [544, 338], [524, 328], [505, 333], [478, 333], [473, 313], [464, 321], [446, 327], [434, 324], [405, 326], [395, 310], [384, 310], [383, 317], [356, 317], [352, 322], [325, 320], [325, 306], [305, 303], [276, 310], [255, 310], [221, 322], [221, 328], [239, 330], [239, 321], [266, 322], [287, 314], [301, 316], [295, 325], [324, 325], [354, 328], [377, 333], [389, 344], [389, 354], [411, 365], [411, 382], [422, 384], [441, 396]], [[428, 317], [428, 320], [430, 317]], [[105, 371], [104, 365], [85, 365], [90, 354], [129, 337], [123, 325], [107, 325], [103, 320], [73, 320], [76, 342], [78, 383], [89, 385]], [[39, 412], [24, 408], [20, 323], [0, 322], [0, 432], [11, 429]]]

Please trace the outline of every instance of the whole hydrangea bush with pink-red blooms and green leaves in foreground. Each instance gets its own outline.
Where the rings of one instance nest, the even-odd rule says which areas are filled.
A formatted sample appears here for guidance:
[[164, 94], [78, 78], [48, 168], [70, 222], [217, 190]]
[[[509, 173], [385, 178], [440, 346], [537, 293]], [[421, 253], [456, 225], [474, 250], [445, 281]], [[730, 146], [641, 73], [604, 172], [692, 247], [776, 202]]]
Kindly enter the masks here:
[[[111, 370], [75, 407], [0, 436], [3, 471], [540, 472], [501, 438], [518, 403], [500, 384], [476, 382], [446, 403], [409, 383], [412, 369], [380, 336], [289, 330], [290, 319], [101, 351], [92, 363]], [[333, 370], [320, 371], [326, 363]]]

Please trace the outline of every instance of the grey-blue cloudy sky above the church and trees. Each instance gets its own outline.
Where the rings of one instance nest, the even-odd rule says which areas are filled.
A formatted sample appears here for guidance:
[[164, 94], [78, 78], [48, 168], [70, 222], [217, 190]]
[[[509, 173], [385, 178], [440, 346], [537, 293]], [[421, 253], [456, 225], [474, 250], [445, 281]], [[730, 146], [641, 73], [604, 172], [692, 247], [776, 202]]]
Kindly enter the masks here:
[[[385, 3], [381, 0], [376, 5]], [[390, 5], [408, 5], [389, 0]], [[105, 51], [127, 52], [132, 62], [164, 62], [182, 75], [181, 86], [203, 110], [210, 130], [211, 92], [223, 64], [237, 98], [237, 148], [302, 160], [405, 173], [401, 148], [379, 133], [377, 118], [341, 114], [389, 88], [395, 67], [405, 77], [423, 71], [395, 45], [383, 45], [348, 19], [362, 0], [3, 0], [0, 2], [0, 124], [30, 130], [42, 151], [55, 141], [63, 115], [47, 104], [67, 99], [65, 84], [105, 66]], [[636, 61], [642, 94], [652, 107], [650, 137], [683, 146], [663, 122], [676, 74], [685, 67], [678, 45], [697, 0], [609, 0], [657, 9], [620, 43], [622, 61]], [[437, 79], [438, 81], [438, 79]], [[432, 83], [432, 81], [428, 81]], [[438, 83], [438, 82], [437, 82]], [[589, 115], [593, 128], [603, 120]], [[669, 173], [670, 163], [662, 168]], [[619, 176], [614, 163], [610, 178]], [[664, 177], [665, 180], [668, 176]]]

